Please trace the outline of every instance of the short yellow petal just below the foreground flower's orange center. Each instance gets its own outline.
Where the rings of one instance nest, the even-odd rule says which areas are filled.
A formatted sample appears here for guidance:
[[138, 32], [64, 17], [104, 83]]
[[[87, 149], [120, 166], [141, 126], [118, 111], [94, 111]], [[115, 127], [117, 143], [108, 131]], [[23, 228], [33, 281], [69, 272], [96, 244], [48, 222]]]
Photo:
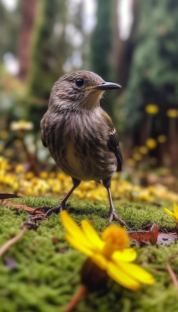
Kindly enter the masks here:
[[133, 248], [127, 248], [124, 249], [123, 251], [114, 251], [114, 253], [111, 256], [111, 259], [119, 264], [120, 261], [123, 262], [130, 262], [134, 261], [137, 257], [137, 253]]

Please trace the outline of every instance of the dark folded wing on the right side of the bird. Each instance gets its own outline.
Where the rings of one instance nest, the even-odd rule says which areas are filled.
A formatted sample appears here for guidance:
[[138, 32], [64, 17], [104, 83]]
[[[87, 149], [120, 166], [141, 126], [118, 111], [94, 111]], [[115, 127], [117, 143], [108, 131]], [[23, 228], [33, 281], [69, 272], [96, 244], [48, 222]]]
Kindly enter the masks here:
[[113, 123], [110, 117], [103, 111], [102, 116], [109, 128], [109, 139], [108, 139], [108, 146], [114, 152], [117, 158], [117, 171], [121, 171], [122, 169], [122, 153], [119, 147], [119, 137], [118, 134], [113, 126]]

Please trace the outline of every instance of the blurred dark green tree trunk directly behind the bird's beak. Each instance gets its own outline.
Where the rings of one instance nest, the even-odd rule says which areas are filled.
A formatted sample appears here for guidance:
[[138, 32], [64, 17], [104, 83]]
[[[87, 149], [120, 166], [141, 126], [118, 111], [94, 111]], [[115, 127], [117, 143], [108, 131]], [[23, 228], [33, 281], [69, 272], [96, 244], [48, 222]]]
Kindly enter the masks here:
[[[117, 46], [115, 40], [118, 40], [117, 18], [115, 18], [115, 12], [117, 11], [116, 5], [116, 0], [97, 0], [97, 23], [90, 40], [91, 70], [101, 76], [105, 81], [113, 81], [116, 77], [113, 58], [116, 55], [114, 49]], [[107, 96], [107, 100], [102, 100], [103, 109], [111, 117], [113, 117], [114, 97], [115, 94], [112, 93]]]

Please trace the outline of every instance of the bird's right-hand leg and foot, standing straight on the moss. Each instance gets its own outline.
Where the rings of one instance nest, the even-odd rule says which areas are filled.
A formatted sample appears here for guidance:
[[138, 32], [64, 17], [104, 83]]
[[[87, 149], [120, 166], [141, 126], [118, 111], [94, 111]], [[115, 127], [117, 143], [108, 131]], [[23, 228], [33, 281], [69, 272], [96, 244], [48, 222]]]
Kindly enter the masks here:
[[111, 197], [111, 191], [110, 191], [110, 186], [111, 186], [111, 179], [107, 178], [105, 180], [102, 180], [103, 185], [107, 189], [107, 194], [108, 194], [108, 199], [109, 199], [109, 222], [111, 221], [117, 221], [120, 223], [121, 226], [127, 226], [127, 224], [118, 217], [117, 212], [115, 211], [114, 205], [112, 203], [112, 197]]

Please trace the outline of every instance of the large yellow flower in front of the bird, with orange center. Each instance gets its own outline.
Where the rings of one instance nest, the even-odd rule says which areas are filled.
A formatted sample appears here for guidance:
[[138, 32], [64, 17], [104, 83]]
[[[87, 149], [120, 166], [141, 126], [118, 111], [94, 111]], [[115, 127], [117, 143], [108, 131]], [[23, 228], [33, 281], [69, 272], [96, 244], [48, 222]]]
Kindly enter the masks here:
[[135, 260], [136, 252], [133, 248], [127, 248], [129, 237], [123, 228], [111, 225], [100, 238], [87, 220], [81, 222], [80, 228], [66, 210], [60, 216], [67, 230], [66, 240], [117, 283], [132, 291], [138, 290], [140, 283], [154, 283], [150, 273], [130, 263]]

